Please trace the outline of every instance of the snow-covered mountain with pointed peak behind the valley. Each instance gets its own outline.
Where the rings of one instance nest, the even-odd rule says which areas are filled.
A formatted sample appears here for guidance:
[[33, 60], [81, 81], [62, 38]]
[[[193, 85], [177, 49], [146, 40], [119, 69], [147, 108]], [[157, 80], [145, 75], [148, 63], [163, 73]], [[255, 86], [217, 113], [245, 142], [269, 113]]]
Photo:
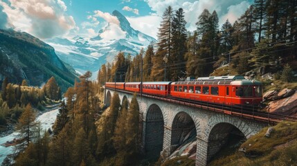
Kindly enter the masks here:
[[120, 29], [125, 33], [122, 39], [108, 40], [102, 37], [107, 30], [111, 30], [112, 25], [108, 24], [99, 30], [97, 37], [91, 39], [76, 36], [72, 39], [48, 39], [46, 42], [55, 48], [57, 56], [62, 61], [73, 66], [78, 73], [97, 72], [102, 64], [112, 63], [120, 51], [133, 56], [139, 53], [141, 48], [156, 43], [153, 37], [134, 30], [125, 16], [117, 10], [112, 14], [118, 18]]

